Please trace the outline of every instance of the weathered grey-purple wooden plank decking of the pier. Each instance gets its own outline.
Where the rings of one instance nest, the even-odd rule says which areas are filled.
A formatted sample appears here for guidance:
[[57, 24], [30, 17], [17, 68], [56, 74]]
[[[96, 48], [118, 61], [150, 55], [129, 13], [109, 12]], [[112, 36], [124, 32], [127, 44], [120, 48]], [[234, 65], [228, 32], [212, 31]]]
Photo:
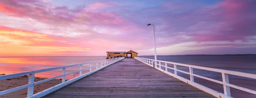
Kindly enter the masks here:
[[126, 58], [44, 98], [214, 98], [133, 58]]

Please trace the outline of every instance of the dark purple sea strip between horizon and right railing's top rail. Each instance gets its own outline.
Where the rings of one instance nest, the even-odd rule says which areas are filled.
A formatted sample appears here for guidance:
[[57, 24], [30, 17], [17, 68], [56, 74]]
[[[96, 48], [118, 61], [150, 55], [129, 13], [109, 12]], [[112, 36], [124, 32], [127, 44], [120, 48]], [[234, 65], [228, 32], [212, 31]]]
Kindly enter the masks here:
[[160, 55], [157, 60], [256, 74], [256, 55]]

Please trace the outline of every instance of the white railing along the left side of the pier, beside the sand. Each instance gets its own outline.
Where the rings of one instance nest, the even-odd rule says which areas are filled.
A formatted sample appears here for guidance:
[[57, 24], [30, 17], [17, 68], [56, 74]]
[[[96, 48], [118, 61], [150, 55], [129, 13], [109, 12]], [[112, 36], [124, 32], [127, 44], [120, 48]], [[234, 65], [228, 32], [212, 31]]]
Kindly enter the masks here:
[[[8, 79], [8, 78], [14, 78], [14, 77], [20, 77], [20, 76], [23, 76], [23, 75], [29, 75], [28, 84], [23, 85], [23, 86], [18, 86], [18, 87], [12, 88], [12, 89], [1, 91], [0, 95], [4, 95], [4, 94], [14, 92], [14, 91], [17, 91], [17, 90], [20, 90], [20, 89], [28, 88], [27, 98], [40, 98], [40, 97], [42, 97], [44, 95], [47, 95], [47, 94], [49, 94], [49, 93], [51, 93], [51, 92], [53, 92], [57, 89], [60, 89], [63, 86], [66, 86], [66, 85], [68, 85], [68, 84], [70, 84], [74, 81], [77, 81], [81, 78], [84, 78], [87, 75], [90, 75], [94, 72], [97, 72], [100, 69], [103, 69], [103, 68], [105, 68], [105, 67], [107, 67], [107, 66], [109, 66], [113, 63], [116, 63], [117, 61], [120, 61], [122, 59], [124, 59], [124, 57], [106, 59], [106, 60], [100, 60], [100, 61], [92, 61], [92, 62], [87, 62], [87, 63], [78, 63], [78, 64], [73, 64], [73, 65], [59, 66], [59, 67], [53, 67], [53, 68], [48, 68], [48, 69], [40, 69], [40, 70], [34, 70], [34, 71], [29, 71], [29, 72], [20, 72], [20, 73], [14, 73], [14, 74], [9, 74], [9, 75], [0, 75], [0, 80]], [[100, 62], [100, 66], [99, 66], [99, 62]], [[93, 65], [93, 63], [96, 63], [96, 65]], [[85, 64], [90, 64], [90, 67], [82, 68], [82, 65], [85, 65]], [[66, 69], [69, 68], [69, 67], [73, 67], [73, 66], [79, 66], [79, 69], [76, 70], [76, 71], [73, 71], [73, 72], [66, 73]], [[96, 67], [96, 69], [92, 70], [92, 68], [94, 68], [94, 67]], [[34, 78], [35, 78], [36, 73], [48, 72], [48, 71], [53, 71], [53, 70], [57, 70], [57, 69], [62, 69], [62, 75], [58, 75], [58, 76], [55, 76], [55, 77], [52, 77], [52, 78], [47, 78], [45, 80], [34, 82]], [[90, 71], [83, 74], [82, 71], [86, 70], [86, 69], [90, 69]], [[73, 73], [76, 73], [76, 72], [79, 72], [79, 74], [80, 74], [78, 77], [72, 78], [72, 79], [66, 81], [66, 75], [70, 75], [70, 74], [73, 74]], [[62, 77], [61, 84], [52, 86], [48, 89], [45, 89], [44, 91], [33, 94], [35, 85], [41, 84], [41, 83], [44, 83], [44, 82], [47, 82], [47, 81], [51, 81], [53, 79], [61, 78], [61, 77]]]

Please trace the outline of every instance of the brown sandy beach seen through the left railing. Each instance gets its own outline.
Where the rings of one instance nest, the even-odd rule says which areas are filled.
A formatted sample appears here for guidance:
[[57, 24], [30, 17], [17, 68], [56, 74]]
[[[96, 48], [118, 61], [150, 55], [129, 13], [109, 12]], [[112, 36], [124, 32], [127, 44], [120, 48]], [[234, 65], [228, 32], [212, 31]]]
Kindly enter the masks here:
[[[36, 81], [41, 81], [46, 78], [36, 78], [35, 77], [35, 82]], [[0, 80], [0, 91], [4, 91], [7, 89], [12, 89], [18, 86], [22, 86], [25, 84], [28, 84], [29, 77], [28, 76], [21, 76], [21, 77], [15, 77], [15, 78], [9, 78], [9, 79], [4, 79]], [[55, 79], [52, 81], [47, 81], [42, 84], [38, 84], [34, 86], [34, 94], [37, 92], [41, 92], [44, 89], [47, 89], [51, 86], [55, 86], [57, 84], [60, 84], [61, 80], [60, 79]], [[27, 96], [27, 88], [25, 89], [20, 89], [15, 92], [11, 92], [5, 95], [0, 95], [0, 98], [25, 98]]]

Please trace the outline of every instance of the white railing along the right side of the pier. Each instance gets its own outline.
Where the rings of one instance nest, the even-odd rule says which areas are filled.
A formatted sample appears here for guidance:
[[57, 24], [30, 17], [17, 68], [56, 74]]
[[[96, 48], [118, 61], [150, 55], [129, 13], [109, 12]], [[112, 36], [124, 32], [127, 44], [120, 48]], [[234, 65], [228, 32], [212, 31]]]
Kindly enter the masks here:
[[[228, 78], [228, 75], [236, 75], [236, 76], [256, 79], [256, 74], [245, 73], [245, 72], [236, 72], [236, 71], [230, 71], [230, 70], [224, 70], [224, 69], [215, 69], [215, 68], [202, 67], [202, 66], [194, 66], [194, 65], [188, 65], [188, 64], [183, 64], [183, 63], [174, 63], [174, 62], [168, 62], [168, 61], [159, 61], [159, 60], [155, 61], [153, 59], [148, 59], [148, 58], [139, 58], [139, 57], [134, 57], [134, 58], [137, 59], [138, 61], [141, 61], [141, 62], [143, 62], [143, 63], [145, 63], [149, 66], [152, 66], [152, 67], [154, 67], [154, 68], [156, 68], [156, 69], [158, 69], [158, 70], [160, 70], [160, 71], [162, 71], [162, 72], [164, 72], [168, 75], [171, 75], [171, 76], [173, 76], [177, 79], [180, 79], [183, 82], [186, 82], [186, 83], [188, 83], [192, 86], [195, 86], [198, 89], [201, 89], [205, 92], [208, 92], [209, 94], [214, 95], [215, 97], [232, 98], [231, 93], [230, 93], [230, 87], [256, 95], [256, 91], [253, 90], [253, 89], [247, 89], [247, 88], [244, 88], [244, 87], [241, 87], [241, 86], [230, 84], [229, 83], [229, 78]], [[168, 64], [172, 64], [173, 68], [167, 66]], [[177, 69], [177, 65], [183, 66], [183, 67], [188, 67], [189, 72]], [[157, 66], [159, 66], [159, 67], [157, 67]], [[161, 67], [165, 68], [165, 69], [162, 69]], [[172, 72], [168, 72], [168, 70], [170, 70], [170, 69], [174, 71], [174, 74]], [[204, 77], [204, 76], [201, 76], [201, 75], [194, 74], [194, 71], [193, 71], [194, 69], [201, 69], [201, 70], [207, 70], [207, 71], [212, 71], [212, 72], [219, 72], [222, 75], [222, 81], [218, 81], [218, 80], [215, 80], [215, 79], [212, 79], [212, 78], [208, 78], [208, 77]], [[177, 72], [182, 72], [184, 74], [189, 75], [190, 80], [188, 80], [188, 79], [186, 79], [182, 76], [177, 75]], [[194, 82], [194, 76], [223, 85], [224, 94]]]

